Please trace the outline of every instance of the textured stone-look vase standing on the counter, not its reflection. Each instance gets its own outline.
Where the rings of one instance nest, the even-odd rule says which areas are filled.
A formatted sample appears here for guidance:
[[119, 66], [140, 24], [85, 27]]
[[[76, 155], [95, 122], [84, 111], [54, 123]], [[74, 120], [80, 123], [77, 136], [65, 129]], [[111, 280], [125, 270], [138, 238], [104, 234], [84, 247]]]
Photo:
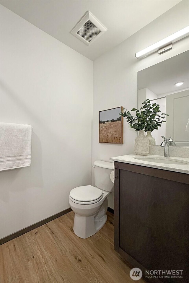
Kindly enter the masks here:
[[137, 155], [149, 154], [149, 141], [143, 130], [139, 131], [139, 135], [135, 139], [135, 153]]

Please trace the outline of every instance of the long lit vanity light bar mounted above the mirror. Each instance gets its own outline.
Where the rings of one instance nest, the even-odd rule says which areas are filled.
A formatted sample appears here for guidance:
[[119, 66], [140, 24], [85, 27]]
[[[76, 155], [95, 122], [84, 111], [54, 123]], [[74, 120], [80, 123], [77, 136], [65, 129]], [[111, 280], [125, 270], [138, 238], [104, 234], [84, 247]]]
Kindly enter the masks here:
[[154, 51], [158, 50], [159, 54], [162, 54], [170, 49], [172, 49], [172, 43], [180, 40], [181, 38], [184, 38], [189, 35], [189, 26], [183, 28], [182, 30], [179, 30], [172, 35], [158, 41], [157, 43], [154, 43], [150, 45], [149, 47], [137, 52], [135, 54], [135, 57], [137, 59], [146, 57], [147, 55], [153, 53]]

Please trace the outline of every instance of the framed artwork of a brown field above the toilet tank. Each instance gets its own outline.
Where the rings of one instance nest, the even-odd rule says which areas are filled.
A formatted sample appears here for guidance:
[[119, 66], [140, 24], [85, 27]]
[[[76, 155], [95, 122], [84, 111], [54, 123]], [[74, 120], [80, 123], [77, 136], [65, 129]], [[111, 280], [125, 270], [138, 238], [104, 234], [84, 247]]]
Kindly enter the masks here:
[[123, 107], [99, 111], [99, 142], [123, 144]]

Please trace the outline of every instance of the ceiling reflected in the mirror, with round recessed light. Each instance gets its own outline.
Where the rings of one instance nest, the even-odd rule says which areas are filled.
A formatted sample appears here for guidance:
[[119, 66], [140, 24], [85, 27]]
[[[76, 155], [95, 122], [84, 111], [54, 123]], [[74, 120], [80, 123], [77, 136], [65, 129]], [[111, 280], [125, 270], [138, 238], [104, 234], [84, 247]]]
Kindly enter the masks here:
[[[148, 88], [157, 95], [189, 87], [189, 51], [138, 72], [138, 89]], [[184, 82], [176, 87], [176, 82]]]

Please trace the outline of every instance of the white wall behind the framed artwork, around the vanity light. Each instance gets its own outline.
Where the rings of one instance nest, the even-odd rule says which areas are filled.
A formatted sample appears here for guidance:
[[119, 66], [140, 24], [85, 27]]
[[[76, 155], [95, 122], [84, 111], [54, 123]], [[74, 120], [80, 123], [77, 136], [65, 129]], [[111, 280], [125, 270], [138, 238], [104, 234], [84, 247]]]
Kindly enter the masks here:
[[[126, 121], [124, 144], [98, 142], [98, 112], [118, 106], [129, 110], [137, 107], [137, 72], [189, 49], [188, 38], [184, 38], [174, 43], [172, 50], [166, 53], [159, 55], [156, 52], [141, 60], [135, 58], [136, 52], [188, 26], [188, 3], [181, 1], [94, 61], [92, 161], [109, 161], [109, 157], [134, 153], [137, 134]], [[113, 208], [112, 196], [109, 198], [109, 206]]]

